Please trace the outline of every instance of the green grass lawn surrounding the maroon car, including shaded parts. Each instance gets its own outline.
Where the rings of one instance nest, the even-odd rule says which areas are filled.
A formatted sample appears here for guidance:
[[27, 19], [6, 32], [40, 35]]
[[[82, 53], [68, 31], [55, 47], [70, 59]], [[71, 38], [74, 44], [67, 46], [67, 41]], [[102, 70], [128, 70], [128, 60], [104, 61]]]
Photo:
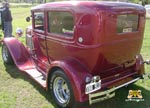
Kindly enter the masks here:
[[[25, 21], [30, 15], [30, 8], [12, 8], [13, 34], [17, 27], [25, 28], [30, 25]], [[24, 42], [24, 37], [19, 40]], [[141, 53], [144, 59], [150, 58], [150, 20], [146, 22], [145, 37]], [[1, 47], [0, 47], [1, 50]], [[0, 53], [0, 108], [56, 108], [49, 93], [35, 83], [29, 76], [20, 72], [15, 66], [4, 65]], [[146, 66], [150, 72], [150, 66]], [[126, 102], [128, 90], [142, 90], [144, 102]], [[117, 90], [112, 99], [82, 108], [150, 108], [150, 80], [145, 83], [138, 81], [128, 88]]]

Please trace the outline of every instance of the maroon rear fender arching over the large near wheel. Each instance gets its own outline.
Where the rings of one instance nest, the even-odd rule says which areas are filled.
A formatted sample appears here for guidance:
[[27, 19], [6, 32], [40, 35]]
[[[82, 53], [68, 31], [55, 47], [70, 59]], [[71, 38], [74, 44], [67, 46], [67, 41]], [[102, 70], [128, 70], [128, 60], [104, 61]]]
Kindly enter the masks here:
[[[67, 75], [74, 92], [74, 96], [77, 102], [85, 102], [88, 100], [85, 94], [85, 79], [86, 77], [92, 78], [92, 75], [86, 67], [81, 65], [78, 61], [68, 58], [61, 61], [54, 61], [49, 69], [49, 75], [54, 68], [62, 69]], [[48, 82], [47, 82], [48, 87]]]

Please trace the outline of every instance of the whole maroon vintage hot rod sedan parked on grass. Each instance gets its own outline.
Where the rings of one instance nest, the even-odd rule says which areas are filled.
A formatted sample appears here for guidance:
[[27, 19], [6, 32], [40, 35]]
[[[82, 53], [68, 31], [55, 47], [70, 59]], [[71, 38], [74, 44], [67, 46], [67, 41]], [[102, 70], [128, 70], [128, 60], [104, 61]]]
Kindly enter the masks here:
[[32, 8], [31, 14], [26, 45], [14, 37], [5, 38], [2, 57], [49, 90], [59, 107], [112, 98], [117, 89], [142, 78], [142, 6], [53, 2]]

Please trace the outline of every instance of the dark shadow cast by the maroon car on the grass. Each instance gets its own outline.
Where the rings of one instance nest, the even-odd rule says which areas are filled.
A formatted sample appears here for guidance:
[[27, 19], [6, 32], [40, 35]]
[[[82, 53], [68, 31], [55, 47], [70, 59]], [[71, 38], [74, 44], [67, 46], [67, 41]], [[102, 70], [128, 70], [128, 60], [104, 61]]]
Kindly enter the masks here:
[[[6, 71], [11, 75], [11, 77], [17, 79], [21, 78], [25, 81], [28, 81], [30, 84], [34, 86], [34, 88], [43, 95], [53, 106], [54, 108], [58, 108], [54, 101], [52, 100], [48, 91], [44, 90], [39, 84], [37, 84], [32, 78], [30, 78], [27, 74], [17, 69], [14, 65], [5, 65]], [[141, 102], [130, 102], [126, 101], [129, 90], [141, 90], [144, 101]], [[150, 91], [145, 88], [138, 86], [136, 84], [129, 85], [128, 87], [121, 88], [116, 91], [116, 96], [98, 102], [96, 104], [89, 105], [88, 102], [80, 103], [80, 107], [76, 108], [149, 108], [150, 107]]]

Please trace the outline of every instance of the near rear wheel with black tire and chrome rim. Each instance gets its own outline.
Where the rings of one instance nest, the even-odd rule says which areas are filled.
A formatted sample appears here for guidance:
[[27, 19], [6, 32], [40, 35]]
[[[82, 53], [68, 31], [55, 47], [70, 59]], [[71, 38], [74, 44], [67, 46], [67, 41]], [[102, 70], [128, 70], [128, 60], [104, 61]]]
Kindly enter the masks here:
[[56, 70], [50, 78], [50, 92], [60, 108], [73, 108], [75, 99], [67, 76], [62, 70]]

